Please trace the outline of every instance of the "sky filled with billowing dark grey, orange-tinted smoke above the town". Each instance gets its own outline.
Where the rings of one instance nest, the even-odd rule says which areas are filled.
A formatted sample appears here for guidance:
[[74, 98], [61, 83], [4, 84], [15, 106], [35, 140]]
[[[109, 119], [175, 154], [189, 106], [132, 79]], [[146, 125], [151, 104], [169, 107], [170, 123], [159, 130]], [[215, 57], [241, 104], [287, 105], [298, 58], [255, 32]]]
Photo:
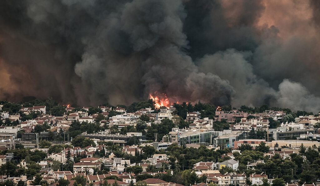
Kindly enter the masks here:
[[318, 1], [0, 1], [0, 99], [320, 110]]

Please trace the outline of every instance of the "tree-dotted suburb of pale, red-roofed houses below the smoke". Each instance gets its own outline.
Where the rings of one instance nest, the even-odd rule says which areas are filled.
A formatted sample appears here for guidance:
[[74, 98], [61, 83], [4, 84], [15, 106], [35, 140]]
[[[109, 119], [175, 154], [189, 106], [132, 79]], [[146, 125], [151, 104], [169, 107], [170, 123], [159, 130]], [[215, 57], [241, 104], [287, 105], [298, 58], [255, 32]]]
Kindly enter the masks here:
[[316, 186], [320, 116], [287, 108], [0, 101], [0, 185]]

